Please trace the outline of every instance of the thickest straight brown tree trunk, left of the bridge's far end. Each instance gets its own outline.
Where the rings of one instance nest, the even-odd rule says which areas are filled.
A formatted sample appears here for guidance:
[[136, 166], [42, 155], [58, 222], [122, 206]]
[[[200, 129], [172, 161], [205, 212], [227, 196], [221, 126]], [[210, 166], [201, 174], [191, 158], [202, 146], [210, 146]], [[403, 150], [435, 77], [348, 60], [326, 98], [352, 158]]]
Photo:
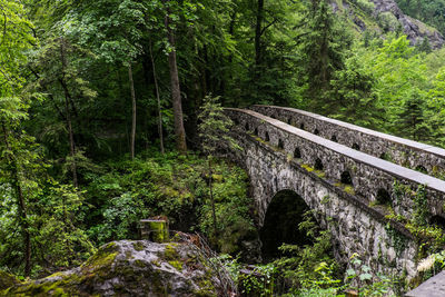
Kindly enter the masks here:
[[168, 65], [170, 68], [171, 99], [174, 102], [176, 142], [179, 152], [186, 154], [187, 152], [186, 130], [184, 129], [182, 102], [181, 102], [180, 87], [179, 87], [178, 66], [176, 61], [175, 34], [170, 28], [170, 17], [169, 17], [170, 11], [167, 7], [169, 0], [162, 0], [162, 2], [164, 4], [166, 4], [167, 11], [166, 11], [165, 24], [167, 28], [167, 39], [171, 47], [171, 50], [168, 53]]

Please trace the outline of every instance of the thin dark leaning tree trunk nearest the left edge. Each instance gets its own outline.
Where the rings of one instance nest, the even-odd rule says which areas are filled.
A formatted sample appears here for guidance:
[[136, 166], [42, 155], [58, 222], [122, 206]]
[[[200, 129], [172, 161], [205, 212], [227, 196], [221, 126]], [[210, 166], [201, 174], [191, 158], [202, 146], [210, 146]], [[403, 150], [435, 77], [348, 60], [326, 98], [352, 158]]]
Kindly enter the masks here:
[[[8, 131], [2, 123], [3, 128], [3, 137], [4, 137], [4, 146], [8, 150], [11, 150], [8, 141]], [[19, 225], [23, 231], [23, 239], [24, 239], [24, 276], [29, 277], [31, 275], [31, 235], [29, 232], [29, 222], [28, 222], [28, 215], [27, 208], [24, 204], [23, 191], [20, 185], [20, 176], [19, 176], [19, 165], [17, 160], [11, 155], [8, 155], [8, 162], [11, 169], [11, 186], [16, 191], [17, 195], [17, 209], [19, 212]]]

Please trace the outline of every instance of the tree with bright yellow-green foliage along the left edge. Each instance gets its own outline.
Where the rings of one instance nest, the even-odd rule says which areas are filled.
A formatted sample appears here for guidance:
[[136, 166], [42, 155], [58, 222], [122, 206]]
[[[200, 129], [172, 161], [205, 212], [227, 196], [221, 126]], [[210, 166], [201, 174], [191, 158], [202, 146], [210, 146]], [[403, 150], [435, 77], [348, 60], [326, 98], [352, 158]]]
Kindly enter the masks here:
[[[23, 190], [22, 164], [30, 161], [21, 133], [21, 120], [27, 117], [28, 103], [21, 97], [23, 78], [20, 70], [26, 63], [24, 51], [34, 39], [29, 30], [32, 24], [24, 19], [23, 7], [16, 1], [0, 0], [0, 185], [10, 187], [17, 207], [17, 221], [23, 236], [24, 275], [31, 273], [31, 236]], [[22, 152], [22, 154], [20, 154]], [[4, 184], [3, 184], [4, 182]], [[1, 199], [4, 196], [0, 195]]]

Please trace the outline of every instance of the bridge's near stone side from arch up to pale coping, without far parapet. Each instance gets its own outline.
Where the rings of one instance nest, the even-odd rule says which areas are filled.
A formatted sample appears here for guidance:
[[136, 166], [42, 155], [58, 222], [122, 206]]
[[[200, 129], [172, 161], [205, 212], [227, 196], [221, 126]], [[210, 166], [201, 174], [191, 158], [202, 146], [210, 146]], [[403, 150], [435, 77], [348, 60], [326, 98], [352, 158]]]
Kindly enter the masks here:
[[[254, 111], [228, 109], [227, 113], [238, 123], [233, 136], [243, 151], [233, 154], [249, 175], [259, 226], [273, 197], [278, 191], [293, 190], [315, 211], [318, 222], [330, 230], [338, 260], [346, 264], [358, 254], [375, 273], [399, 276], [406, 271], [408, 281], [417, 275], [413, 236], [403, 225], [388, 220], [384, 207], [369, 204], [376, 200], [378, 189], [392, 192], [394, 180], [413, 189], [428, 184], [431, 211], [442, 212], [445, 181]], [[300, 158], [294, 158], [296, 148]], [[323, 170], [314, 169], [317, 159]], [[340, 182], [345, 171], [350, 172], [353, 186]], [[413, 204], [411, 198], [400, 198], [393, 206], [397, 214], [409, 218]]]

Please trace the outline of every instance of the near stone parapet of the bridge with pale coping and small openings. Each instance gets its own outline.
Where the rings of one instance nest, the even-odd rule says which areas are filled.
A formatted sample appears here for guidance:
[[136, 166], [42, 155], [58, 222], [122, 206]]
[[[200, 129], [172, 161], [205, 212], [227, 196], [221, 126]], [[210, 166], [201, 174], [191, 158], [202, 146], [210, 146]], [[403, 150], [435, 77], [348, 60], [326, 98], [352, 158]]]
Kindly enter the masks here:
[[[415, 209], [412, 190], [425, 186], [431, 216], [443, 216], [443, 180], [369, 156], [253, 110], [226, 109], [226, 112], [239, 129], [256, 138], [256, 141], [271, 146], [277, 158], [295, 159], [306, 170], [319, 172], [322, 178], [344, 187], [352, 195], [359, 195], [369, 204], [390, 202], [396, 214], [411, 218]], [[412, 190], [396, 199], [392, 196], [394, 181]]]

